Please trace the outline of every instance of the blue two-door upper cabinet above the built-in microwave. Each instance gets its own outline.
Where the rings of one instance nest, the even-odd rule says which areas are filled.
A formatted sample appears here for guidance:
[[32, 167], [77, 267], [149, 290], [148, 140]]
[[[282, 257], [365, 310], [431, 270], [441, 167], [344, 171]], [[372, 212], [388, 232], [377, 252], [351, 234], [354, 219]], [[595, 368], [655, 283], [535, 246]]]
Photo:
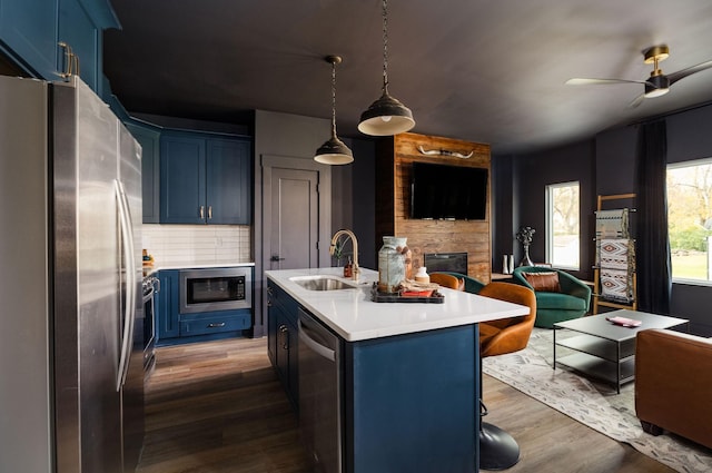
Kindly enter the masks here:
[[165, 131], [160, 137], [160, 223], [249, 225], [249, 140]]

